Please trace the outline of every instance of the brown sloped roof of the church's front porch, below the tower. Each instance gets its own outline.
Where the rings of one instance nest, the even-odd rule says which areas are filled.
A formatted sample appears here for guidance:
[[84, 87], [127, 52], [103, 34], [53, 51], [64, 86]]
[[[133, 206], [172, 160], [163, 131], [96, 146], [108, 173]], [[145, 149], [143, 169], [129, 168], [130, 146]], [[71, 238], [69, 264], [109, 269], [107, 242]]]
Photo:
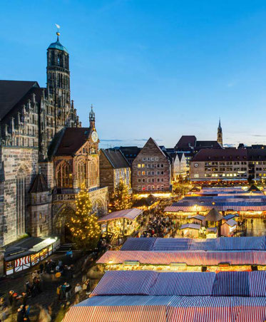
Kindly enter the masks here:
[[88, 140], [91, 128], [66, 128], [54, 155], [73, 155]]

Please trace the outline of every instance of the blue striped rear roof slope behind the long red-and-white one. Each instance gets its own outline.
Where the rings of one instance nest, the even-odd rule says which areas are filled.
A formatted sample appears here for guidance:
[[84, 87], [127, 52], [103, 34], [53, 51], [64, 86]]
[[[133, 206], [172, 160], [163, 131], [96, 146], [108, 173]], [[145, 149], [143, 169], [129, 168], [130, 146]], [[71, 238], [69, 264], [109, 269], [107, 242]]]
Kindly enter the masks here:
[[223, 251], [266, 250], [263, 237], [220, 237], [215, 239], [189, 238], [129, 238], [123, 251]]

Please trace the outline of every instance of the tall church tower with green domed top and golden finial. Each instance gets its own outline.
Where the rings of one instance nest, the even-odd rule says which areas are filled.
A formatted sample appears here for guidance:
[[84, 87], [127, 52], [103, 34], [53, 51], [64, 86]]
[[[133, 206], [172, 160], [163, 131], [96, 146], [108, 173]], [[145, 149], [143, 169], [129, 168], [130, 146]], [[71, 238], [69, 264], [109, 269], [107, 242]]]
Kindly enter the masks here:
[[71, 116], [69, 54], [59, 41], [59, 31], [56, 35], [56, 42], [51, 43], [47, 49], [46, 74], [48, 97], [52, 99], [49, 104], [53, 105], [55, 130], [58, 132], [64, 126], [73, 125], [69, 124]]

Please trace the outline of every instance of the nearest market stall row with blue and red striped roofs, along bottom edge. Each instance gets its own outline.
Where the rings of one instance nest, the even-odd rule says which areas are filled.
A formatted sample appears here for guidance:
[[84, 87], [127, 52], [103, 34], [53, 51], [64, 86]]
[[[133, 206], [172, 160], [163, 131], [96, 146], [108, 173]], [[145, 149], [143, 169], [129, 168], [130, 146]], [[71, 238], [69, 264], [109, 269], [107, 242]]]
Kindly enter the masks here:
[[63, 321], [265, 321], [265, 278], [265, 272], [108, 271]]

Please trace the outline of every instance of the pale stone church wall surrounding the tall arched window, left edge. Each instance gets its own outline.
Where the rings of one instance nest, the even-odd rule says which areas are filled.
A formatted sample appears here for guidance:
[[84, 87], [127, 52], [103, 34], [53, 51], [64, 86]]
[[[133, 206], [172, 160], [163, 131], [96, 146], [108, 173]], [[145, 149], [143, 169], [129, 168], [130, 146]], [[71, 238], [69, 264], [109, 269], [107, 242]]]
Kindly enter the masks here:
[[[2, 147], [2, 160], [4, 162], [4, 217], [7, 232], [4, 233], [3, 244], [9, 244], [18, 239], [16, 233], [16, 176], [22, 170], [26, 177], [26, 227], [29, 232], [29, 188], [38, 169], [39, 152], [31, 148]], [[1, 245], [0, 245], [1, 246]]]

